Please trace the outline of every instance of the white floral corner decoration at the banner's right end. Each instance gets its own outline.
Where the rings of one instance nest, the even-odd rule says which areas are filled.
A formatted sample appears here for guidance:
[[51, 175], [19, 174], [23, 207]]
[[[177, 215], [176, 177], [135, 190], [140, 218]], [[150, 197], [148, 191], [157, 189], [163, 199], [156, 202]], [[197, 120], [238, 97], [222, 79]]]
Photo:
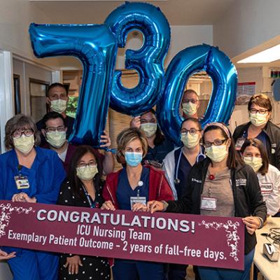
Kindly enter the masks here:
[[232, 223], [232, 221], [227, 221], [227, 223], [207, 223], [205, 221], [202, 221], [202, 223], [199, 223], [199, 225], [204, 226], [204, 228], [214, 228], [214, 230], [221, 230], [221, 228], [225, 229], [226, 237], [227, 237], [227, 243], [228, 246], [232, 249], [230, 252], [230, 257], [234, 258], [236, 262], [239, 261], [239, 258], [237, 257], [238, 250], [238, 244], [239, 244], [239, 235], [237, 234], [237, 227], [240, 225], [239, 222]]

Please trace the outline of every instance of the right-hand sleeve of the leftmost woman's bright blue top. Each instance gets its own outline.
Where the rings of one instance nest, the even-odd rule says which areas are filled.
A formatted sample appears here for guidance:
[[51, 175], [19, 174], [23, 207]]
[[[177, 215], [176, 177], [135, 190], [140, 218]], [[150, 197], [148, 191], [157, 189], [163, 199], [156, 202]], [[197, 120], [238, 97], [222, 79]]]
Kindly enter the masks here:
[[53, 153], [50, 157], [50, 166], [47, 168], [48, 174], [54, 174], [52, 182], [50, 182], [50, 191], [48, 193], [40, 193], [35, 195], [35, 197], [38, 203], [56, 204], [60, 186], [66, 177], [62, 162], [58, 158], [57, 153]]

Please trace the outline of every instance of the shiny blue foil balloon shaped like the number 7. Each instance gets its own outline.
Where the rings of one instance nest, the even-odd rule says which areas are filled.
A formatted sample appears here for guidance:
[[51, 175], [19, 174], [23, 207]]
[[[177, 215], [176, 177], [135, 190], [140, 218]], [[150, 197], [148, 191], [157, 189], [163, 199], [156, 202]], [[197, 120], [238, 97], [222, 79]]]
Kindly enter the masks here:
[[72, 55], [83, 64], [83, 83], [69, 141], [99, 146], [109, 109], [116, 38], [106, 25], [36, 25], [29, 27], [36, 57]]

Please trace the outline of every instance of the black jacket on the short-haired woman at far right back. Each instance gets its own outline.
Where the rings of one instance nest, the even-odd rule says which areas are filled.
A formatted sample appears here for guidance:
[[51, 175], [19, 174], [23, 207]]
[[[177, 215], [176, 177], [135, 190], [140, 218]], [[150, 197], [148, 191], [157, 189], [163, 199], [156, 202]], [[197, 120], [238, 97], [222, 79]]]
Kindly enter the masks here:
[[[233, 139], [237, 141], [239, 137], [242, 137], [244, 131], [248, 130], [250, 125], [251, 122], [235, 128], [235, 132], [232, 135]], [[280, 170], [280, 128], [269, 120], [262, 131], [267, 134], [267, 138], [269, 139], [267, 143], [269, 163]]]

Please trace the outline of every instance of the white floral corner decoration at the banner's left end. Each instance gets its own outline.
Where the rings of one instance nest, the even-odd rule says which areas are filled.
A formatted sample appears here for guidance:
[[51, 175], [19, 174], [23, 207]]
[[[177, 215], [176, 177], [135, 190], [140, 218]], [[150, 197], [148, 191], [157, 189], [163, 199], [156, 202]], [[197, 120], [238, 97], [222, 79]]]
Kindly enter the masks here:
[[29, 214], [32, 211], [32, 207], [24, 208], [24, 207], [15, 207], [8, 203], [8, 204], [0, 204], [0, 238], [3, 235], [6, 235], [5, 228], [10, 223], [10, 215], [12, 212], [16, 212], [18, 214]]

